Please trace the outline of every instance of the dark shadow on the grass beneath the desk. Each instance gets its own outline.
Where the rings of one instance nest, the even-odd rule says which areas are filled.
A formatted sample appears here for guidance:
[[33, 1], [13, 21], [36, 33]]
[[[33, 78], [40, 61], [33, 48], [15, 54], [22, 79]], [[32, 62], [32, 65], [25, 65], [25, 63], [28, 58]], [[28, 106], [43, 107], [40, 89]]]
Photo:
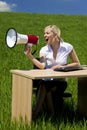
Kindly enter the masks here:
[[75, 110], [75, 108], [73, 107], [73, 104], [63, 103], [61, 107], [59, 106], [57, 107], [56, 112], [53, 116], [48, 114], [48, 112], [45, 110], [39, 114], [35, 122], [37, 122], [37, 120], [43, 120], [43, 119], [45, 122], [50, 120], [51, 123], [53, 124], [58, 125], [61, 122], [63, 122], [66, 125], [67, 122], [70, 124], [79, 123], [79, 122], [84, 124], [86, 117], [81, 115], [78, 112], [78, 110]]

